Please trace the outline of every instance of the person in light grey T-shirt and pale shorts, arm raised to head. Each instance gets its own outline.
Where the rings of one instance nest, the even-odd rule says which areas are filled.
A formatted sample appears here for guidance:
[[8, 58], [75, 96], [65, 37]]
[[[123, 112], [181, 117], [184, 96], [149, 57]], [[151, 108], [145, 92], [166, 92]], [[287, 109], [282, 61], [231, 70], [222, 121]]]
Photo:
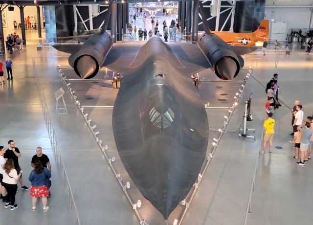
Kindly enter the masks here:
[[301, 138], [301, 143], [300, 143], [301, 159], [299, 162], [297, 162], [299, 166], [305, 165], [305, 162], [307, 161], [305, 160], [305, 157], [307, 154], [308, 147], [310, 145], [310, 140], [312, 140], [312, 130], [310, 129], [311, 123], [306, 122], [305, 128], [302, 128], [303, 125], [304, 124], [298, 126], [298, 132], [301, 131], [302, 133], [302, 138]]

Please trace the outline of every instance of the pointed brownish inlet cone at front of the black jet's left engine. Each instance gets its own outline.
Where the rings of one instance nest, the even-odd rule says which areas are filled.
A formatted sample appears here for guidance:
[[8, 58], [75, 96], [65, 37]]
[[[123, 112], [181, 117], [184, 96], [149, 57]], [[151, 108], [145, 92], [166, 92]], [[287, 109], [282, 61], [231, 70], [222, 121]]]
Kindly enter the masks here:
[[86, 79], [96, 71], [97, 63], [90, 56], [84, 55], [78, 59], [76, 69], [81, 78]]

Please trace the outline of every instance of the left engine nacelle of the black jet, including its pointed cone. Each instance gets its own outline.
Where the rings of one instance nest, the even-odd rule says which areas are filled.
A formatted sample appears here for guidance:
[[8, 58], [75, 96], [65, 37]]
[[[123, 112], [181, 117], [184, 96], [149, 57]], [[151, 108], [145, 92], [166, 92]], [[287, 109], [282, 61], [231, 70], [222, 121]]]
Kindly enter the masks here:
[[105, 32], [102, 35], [100, 32], [95, 33], [76, 54], [70, 55], [69, 65], [74, 68], [78, 76], [90, 79], [98, 73], [112, 44], [112, 37], [109, 33]]

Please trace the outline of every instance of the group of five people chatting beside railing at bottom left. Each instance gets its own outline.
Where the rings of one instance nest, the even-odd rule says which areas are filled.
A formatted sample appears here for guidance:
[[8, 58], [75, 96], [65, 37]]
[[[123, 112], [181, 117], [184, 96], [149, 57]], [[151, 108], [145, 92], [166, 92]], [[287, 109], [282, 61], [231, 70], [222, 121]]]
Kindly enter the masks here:
[[[31, 188], [24, 185], [22, 174], [24, 173], [19, 165], [19, 158], [22, 153], [19, 148], [15, 147], [14, 140], [8, 141], [8, 148], [0, 146], [0, 199], [5, 203], [4, 208], [14, 210], [18, 207], [15, 195], [18, 189], [18, 181], [22, 190], [30, 189], [32, 197], [32, 210], [36, 210], [36, 202], [41, 198], [43, 210], [46, 212], [47, 198], [50, 197], [49, 188], [51, 186], [51, 165], [49, 158], [42, 153], [42, 147], [36, 148], [36, 155], [31, 160], [31, 166], [34, 168], [28, 177], [31, 182]], [[24, 173], [25, 174], [25, 173]]]

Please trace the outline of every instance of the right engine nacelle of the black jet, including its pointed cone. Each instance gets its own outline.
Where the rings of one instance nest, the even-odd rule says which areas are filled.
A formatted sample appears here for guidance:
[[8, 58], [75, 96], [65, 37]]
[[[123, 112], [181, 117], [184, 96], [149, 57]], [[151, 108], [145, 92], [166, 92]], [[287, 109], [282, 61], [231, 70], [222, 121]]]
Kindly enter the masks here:
[[237, 55], [215, 34], [202, 34], [198, 45], [209, 59], [215, 74], [223, 80], [236, 77], [241, 68]]

